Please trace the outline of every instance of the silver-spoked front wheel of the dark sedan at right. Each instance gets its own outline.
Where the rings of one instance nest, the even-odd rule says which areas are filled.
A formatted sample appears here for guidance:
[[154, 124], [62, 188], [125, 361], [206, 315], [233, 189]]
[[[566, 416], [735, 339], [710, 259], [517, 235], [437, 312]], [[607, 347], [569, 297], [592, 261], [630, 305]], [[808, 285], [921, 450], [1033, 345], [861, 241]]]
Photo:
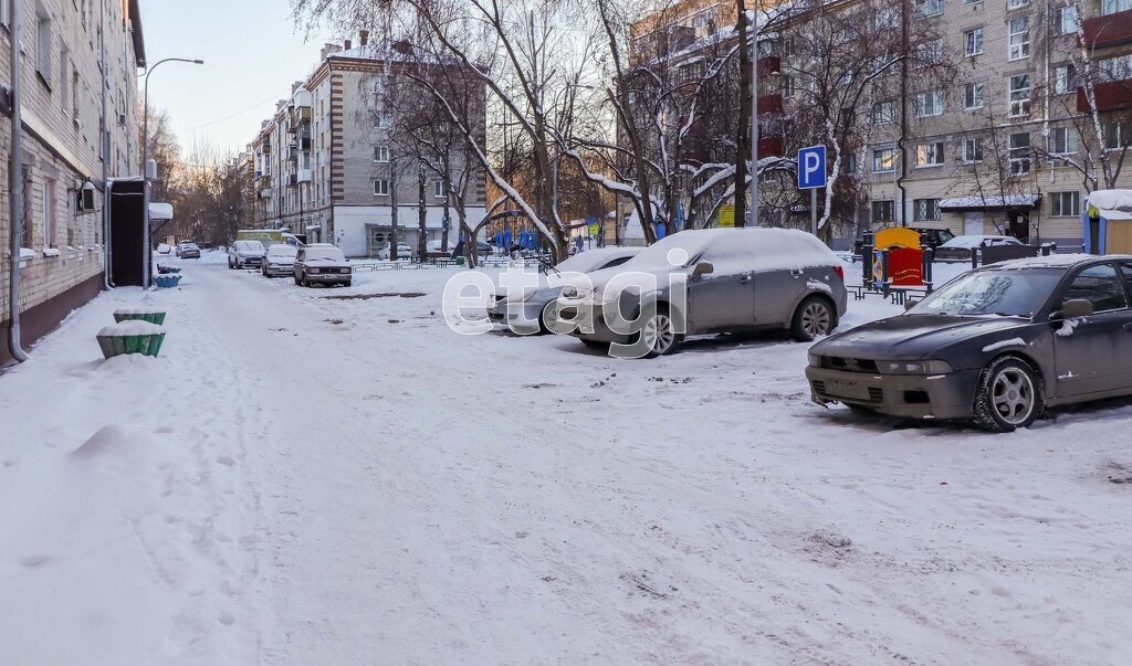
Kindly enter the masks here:
[[1028, 427], [1041, 414], [1041, 380], [1029, 363], [1000, 356], [979, 375], [975, 393], [975, 423], [990, 432]]

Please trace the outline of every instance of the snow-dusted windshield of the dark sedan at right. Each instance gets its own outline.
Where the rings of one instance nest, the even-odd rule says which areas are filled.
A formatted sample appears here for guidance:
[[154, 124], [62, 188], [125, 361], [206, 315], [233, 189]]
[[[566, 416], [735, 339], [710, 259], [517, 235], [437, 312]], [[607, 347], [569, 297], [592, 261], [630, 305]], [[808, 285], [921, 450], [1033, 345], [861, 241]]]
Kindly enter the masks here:
[[940, 287], [908, 314], [1032, 317], [1064, 275], [1055, 268], [976, 270]]

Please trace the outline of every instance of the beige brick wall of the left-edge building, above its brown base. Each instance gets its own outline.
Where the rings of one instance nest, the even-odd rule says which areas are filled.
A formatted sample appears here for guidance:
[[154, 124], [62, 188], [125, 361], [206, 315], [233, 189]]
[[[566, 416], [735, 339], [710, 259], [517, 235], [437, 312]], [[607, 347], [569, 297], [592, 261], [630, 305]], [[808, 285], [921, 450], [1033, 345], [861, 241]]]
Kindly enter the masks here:
[[[25, 190], [31, 194], [24, 210], [29, 216], [25, 228], [32, 232], [23, 246], [34, 256], [22, 262], [22, 309], [37, 305], [102, 273], [102, 194], [96, 193], [93, 211], [78, 211], [76, 202], [84, 182], [102, 178], [101, 5], [98, 0], [23, 2], [23, 147], [24, 166], [28, 170]], [[105, 158], [110, 176], [114, 178], [138, 171], [137, 68], [130, 24], [123, 15], [128, 5], [106, 2], [105, 7], [106, 124], [111, 133], [111, 152]], [[43, 34], [37, 29], [43, 17], [50, 17], [50, 45], [42, 41]], [[6, 87], [11, 86], [9, 40], [8, 26], [0, 28], [0, 84]], [[50, 68], [44, 68], [46, 76], [37, 71], [41, 47], [50, 53]], [[7, 313], [11, 124], [7, 119], [0, 124], [3, 154], [0, 312]]]

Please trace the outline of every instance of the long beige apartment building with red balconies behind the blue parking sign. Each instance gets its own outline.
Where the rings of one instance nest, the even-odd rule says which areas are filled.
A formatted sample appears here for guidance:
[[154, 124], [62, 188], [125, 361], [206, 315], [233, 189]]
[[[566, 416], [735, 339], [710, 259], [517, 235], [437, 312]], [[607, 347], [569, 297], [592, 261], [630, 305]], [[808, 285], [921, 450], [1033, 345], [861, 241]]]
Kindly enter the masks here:
[[[677, 72], [687, 69], [695, 80], [696, 68], [711, 61], [706, 50], [718, 53], [719, 38], [737, 38], [726, 29], [736, 18], [732, 7], [674, 2], [633, 27], [632, 47]], [[1132, 187], [1132, 0], [771, 0], [760, 7], [760, 156], [827, 144], [824, 120], [850, 126], [838, 130], [844, 142], [841, 192], [831, 209], [842, 208], [837, 233], [947, 227], [1072, 249], [1082, 242], [1087, 193]], [[817, 19], [837, 34], [820, 34]], [[874, 60], [890, 63], [881, 76], [854, 64]], [[737, 68], [723, 72], [713, 85], [737, 88]], [[838, 88], [854, 86], [863, 89], [852, 101], [859, 107], [844, 106], [851, 95], [839, 96]], [[840, 109], [815, 118], [822, 106]], [[737, 106], [714, 111], [737, 113]], [[726, 157], [719, 141], [706, 138], [704, 154]], [[767, 183], [763, 197], [782, 189]], [[808, 227], [808, 202], [786, 193], [778, 208], [764, 201], [760, 222]], [[818, 207], [824, 211], [824, 202]]]

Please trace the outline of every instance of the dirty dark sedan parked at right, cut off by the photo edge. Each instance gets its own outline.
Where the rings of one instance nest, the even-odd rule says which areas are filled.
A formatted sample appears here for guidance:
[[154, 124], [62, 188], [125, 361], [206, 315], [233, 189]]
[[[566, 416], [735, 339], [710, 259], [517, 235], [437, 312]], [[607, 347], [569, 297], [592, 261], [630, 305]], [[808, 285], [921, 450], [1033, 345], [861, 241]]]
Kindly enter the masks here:
[[814, 401], [995, 432], [1045, 407], [1132, 395], [1132, 257], [1021, 259], [811, 348]]

